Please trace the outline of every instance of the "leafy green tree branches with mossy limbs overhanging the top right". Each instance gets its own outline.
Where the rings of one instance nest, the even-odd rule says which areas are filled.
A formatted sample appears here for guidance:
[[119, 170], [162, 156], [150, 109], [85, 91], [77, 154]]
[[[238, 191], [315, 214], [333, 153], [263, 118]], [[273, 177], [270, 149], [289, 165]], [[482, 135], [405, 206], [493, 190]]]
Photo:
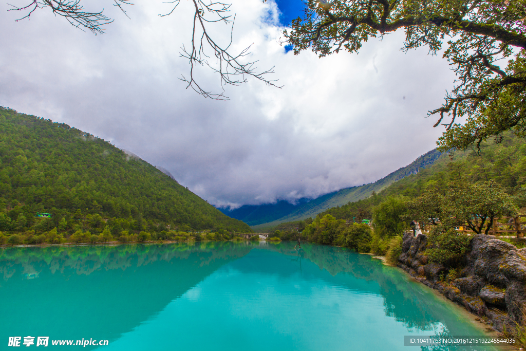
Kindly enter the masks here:
[[[442, 151], [480, 145], [511, 129], [526, 135], [524, 0], [308, 0], [284, 34], [294, 53], [357, 53], [364, 42], [404, 28], [402, 51], [427, 46], [457, 73], [445, 102], [430, 111]], [[447, 119], [449, 115], [450, 119]], [[466, 118], [465, 124], [458, 121]]]

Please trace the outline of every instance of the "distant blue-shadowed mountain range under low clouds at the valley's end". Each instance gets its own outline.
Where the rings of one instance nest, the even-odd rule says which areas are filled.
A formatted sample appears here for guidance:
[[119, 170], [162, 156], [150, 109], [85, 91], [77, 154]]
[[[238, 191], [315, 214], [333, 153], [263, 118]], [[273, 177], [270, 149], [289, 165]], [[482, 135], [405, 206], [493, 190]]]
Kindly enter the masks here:
[[397, 169], [397, 171], [377, 180], [375, 183], [341, 189], [312, 200], [301, 199], [297, 205], [281, 201], [276, 204], [242, 206], [233, 211], [222, 210], [222, 212], [233, 218], [243, 220], [254, 229], [274, 227], [282, 222], [315, 217], [318, 213], [328, 208], [365, 199], [373, 192], [378, 193], [402, 178], [417, 174], [421, 169], [437, 161], [440, 155], [441, 153], [434, 149], [418, 157], [408, 166]]

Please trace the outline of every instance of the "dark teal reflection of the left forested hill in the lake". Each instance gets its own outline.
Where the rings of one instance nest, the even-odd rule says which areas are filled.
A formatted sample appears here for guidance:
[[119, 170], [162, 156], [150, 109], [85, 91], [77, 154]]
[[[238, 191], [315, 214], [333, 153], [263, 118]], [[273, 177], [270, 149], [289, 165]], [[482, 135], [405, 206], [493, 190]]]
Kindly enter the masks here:
[[6, 339], [37, 332], [114, 339], [251, 247], [211, 242], [6, 248], [0, 256], [0, 333]]

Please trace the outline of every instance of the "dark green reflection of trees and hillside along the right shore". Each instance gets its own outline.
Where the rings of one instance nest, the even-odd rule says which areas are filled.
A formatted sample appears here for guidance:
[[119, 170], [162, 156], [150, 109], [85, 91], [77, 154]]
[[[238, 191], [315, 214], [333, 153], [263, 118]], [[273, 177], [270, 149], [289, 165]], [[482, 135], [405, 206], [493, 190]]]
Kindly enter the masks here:
[[[467, 322], [466, 314], [458, 314], [460, 307], [444, 303], [436, 293], [414, 282], [400, 269], [383, 265], [369, 255], [358, 254], [346, 248], [321, 245], [303, 245], [301, 250], [292, 249], [292, 243], [270, 245], [284, 255], [291, 256], [291, 262], [300, 266], [301, 260], [308, 260], [320, 268], [320, 275], [335, 285], [341, 285], [360, 293], [378, 294], [383, 298], [386, 316], [404, 323], [408, 330], [421, 335], [484, 335], [483, 330]], [[463, 311], [462, 311], [463, 312]], [[432, 331], [433, 333], [429, 333]], [[429, 346], [426, 350], [455, 349], [454, 347]], [[493, 349], [480, 346], [464, 346], [465, 350]]]

